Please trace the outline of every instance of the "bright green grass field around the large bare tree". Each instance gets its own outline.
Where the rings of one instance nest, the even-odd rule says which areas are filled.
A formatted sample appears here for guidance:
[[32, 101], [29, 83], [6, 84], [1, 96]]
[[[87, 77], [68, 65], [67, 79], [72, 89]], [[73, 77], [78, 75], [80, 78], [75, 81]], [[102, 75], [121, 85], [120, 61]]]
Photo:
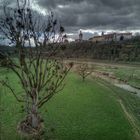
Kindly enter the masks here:
[[[2, 70], [1, 78], [4, 74]], [[16, 76], [11, 72], [7, 75], [11, 85], [20, 91]], [[64, 90], [44, 106], [41, 114], [45, 119], [45, 140], [134, 140], [133, 128], [116, 92], [94, 79], [82, 82], [73, 73], [68, 75]], [[23, 139], [16, 131], [23, 117], [21, 104], [10, 91], [0, 87], [1, 140]]]

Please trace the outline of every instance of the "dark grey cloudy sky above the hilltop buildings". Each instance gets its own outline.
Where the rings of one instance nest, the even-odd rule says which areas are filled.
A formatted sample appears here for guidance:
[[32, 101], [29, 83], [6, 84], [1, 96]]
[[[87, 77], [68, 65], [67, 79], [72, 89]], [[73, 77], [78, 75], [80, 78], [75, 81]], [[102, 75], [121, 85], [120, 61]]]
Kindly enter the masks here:
[[79, 30], [83, 31], [84, 38], [89, 38], [102, 31], [137, 32], [140, 29], [140, 0], [31, 1], [33, 9], [44, 15], [54, 11], [73, 38], [78, 38]]

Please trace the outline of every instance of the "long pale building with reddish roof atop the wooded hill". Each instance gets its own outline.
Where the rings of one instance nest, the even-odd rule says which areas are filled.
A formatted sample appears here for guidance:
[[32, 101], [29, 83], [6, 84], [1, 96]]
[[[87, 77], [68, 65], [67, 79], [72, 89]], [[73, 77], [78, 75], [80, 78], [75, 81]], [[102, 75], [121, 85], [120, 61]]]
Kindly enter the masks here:
[[111, 33], [102, 34], [101, 36], [94, 36], [89, 39], [92, 42], [110, 42], [110, 41], [123, 41], [132, 39], [132, 33]]

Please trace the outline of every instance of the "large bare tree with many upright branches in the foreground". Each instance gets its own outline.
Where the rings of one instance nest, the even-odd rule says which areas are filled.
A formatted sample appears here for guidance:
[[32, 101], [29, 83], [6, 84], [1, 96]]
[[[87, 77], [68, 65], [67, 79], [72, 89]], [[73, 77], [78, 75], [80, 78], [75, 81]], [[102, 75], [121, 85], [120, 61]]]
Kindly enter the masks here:
[[38, 135], [42, 131], [39, 109], [63, 89], [63, 81], [73, 65], [64, 65], [61, 59], [56, 59], [64, 28], [52, 12], [46, 20], [46, 17], [34, 14], [27, 0], [23, 3], [17, 0], [14, 9], [4, 6], [0, 31], [15, 46], [14, 55], [5, 53], [5, 56], [8, 68], [20, 80], [22, 92], [17, 94], [7, 80], [0, 83], [18, 102], [25, 104], [27, 116], [18, 125], [20, 132]]

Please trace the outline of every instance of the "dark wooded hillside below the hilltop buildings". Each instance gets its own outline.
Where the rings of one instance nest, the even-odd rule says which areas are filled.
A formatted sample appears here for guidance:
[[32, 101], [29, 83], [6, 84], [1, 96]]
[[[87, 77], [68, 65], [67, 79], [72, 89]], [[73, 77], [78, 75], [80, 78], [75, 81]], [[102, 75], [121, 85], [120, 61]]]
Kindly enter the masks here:
[[[59, 47], [56, 53], [57, 57], [82, 58], [109, 60], [113, 62], [140, 62], [140, 39], [132, 39], [121, 42], [101, 42], [94, 43], [91, 41], [70, 42], [62, 44], [48, 44], [41, 48], [42, 54], [46, 55], [51, 51], [52, 47]], [[14, 47], [0, 46], [0, 52], [8, 52], [13, 54]]]

